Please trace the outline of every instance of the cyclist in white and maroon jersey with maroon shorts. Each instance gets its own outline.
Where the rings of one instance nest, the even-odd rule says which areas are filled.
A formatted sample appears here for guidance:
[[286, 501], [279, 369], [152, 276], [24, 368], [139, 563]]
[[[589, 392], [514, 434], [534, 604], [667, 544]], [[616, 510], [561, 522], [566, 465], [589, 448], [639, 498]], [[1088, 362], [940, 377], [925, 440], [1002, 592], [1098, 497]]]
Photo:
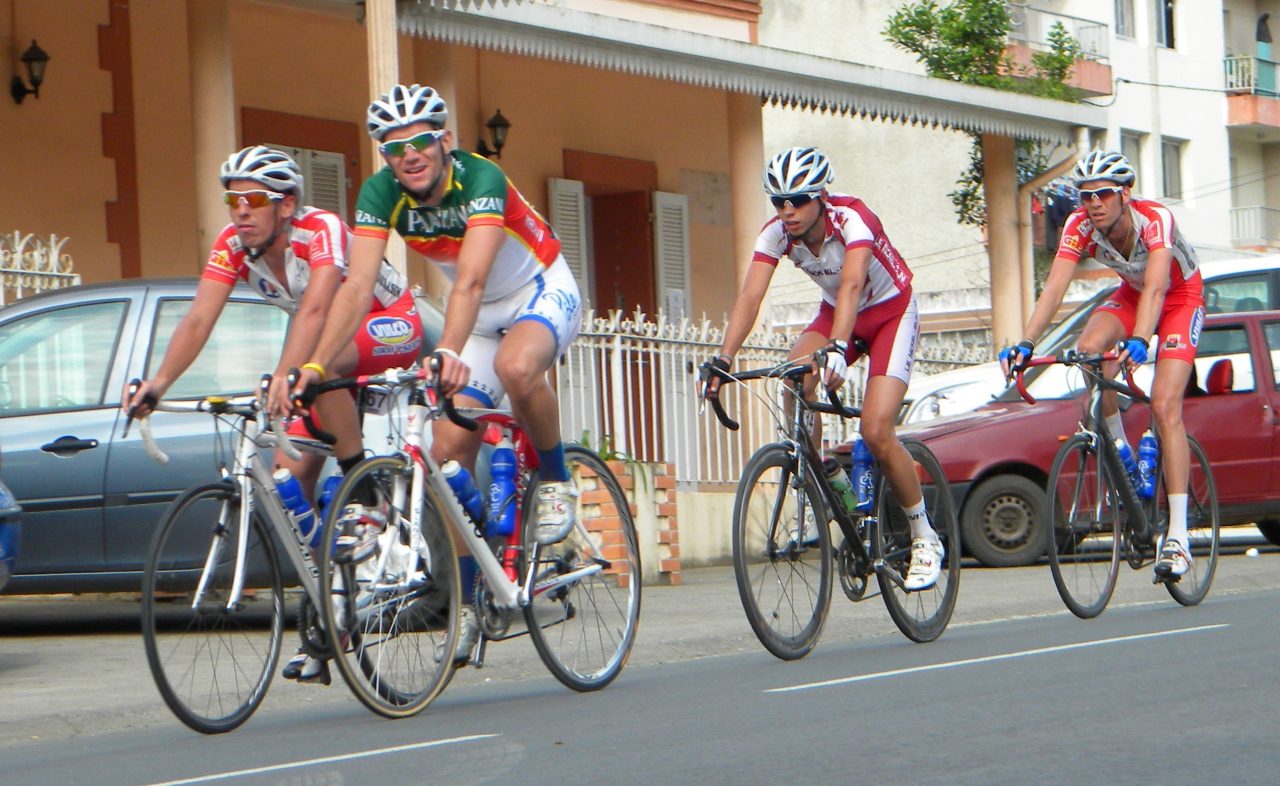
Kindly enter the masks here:
[[[861, 355], [855, 339], [867, 347], [861, 435], [897, 498], [914, 501], [902, 508], [911, 526], [911, 565], [904, 586], [928, 589], [942, 572], [945, 549], [924, 511], [911, 456], [895, 429], [920, 333], [911, 271], [861, 200], [827, 191], [833, 179], [827, 157], [813, 147], [785, 150], [765, 166], [764, 192], [778, 215], [760, 230], [721, 353], [708, 362], [724, 370], [732, 365], [783, 256], [809, 274], [822, 288], [822, 305], [792, 344], [790, 358], [826, 349], [822, 381], [837, 388], [845, 383], [849, 364]], [[817, 375], [806, 378], [806, 397], [814, 394], [817, 383]], [[719, 380], [712, 379], [703, 394], [716, 396], [718, 388]], [[817, 531], [808, 531], [815, 527], [817, 522], [806, 524], [800, 536], [815, 540]]]

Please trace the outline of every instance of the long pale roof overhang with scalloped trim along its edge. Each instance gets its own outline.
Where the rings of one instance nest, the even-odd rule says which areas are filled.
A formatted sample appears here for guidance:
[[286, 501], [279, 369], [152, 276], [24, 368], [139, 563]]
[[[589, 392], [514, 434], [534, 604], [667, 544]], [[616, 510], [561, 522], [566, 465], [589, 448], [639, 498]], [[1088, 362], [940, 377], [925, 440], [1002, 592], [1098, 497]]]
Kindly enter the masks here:
[[1105, 110], [562, 6], [403, 1], [401, 32], [760, 96], [785, 106], [1071, 145]]

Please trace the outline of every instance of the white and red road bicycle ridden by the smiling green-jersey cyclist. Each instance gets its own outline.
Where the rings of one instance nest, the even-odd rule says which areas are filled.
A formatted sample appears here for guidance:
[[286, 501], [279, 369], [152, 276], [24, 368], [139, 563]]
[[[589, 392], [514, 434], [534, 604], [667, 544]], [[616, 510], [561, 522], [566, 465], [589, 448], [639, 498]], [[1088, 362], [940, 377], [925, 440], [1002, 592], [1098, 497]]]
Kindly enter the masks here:
[[[403, 445], [353, 467], [325, 518], [323, 543], [358, 540], [358, 527], [370, 521], [384, 527], [365, 559], [344, 549], [325, 549], [320, 558], [321, 585], [335, 588], [333, 602], [323, 604], [323, 623], [338, 670], [366, 707], [388, 717], [417, 712], [444, 689], [454, 671], [462, 607], [461, 544], [479, 566], [474, 590], [483, 635], [468, 662], [479, 667], [489, 641], [527, 632], [557, 680], [579, 691], [604, 687], [630, 657], [640, 618], [640, 554], [622, 488], [599, 456], [566, 445], [581, 492], [577, 524], [561, 543], [538, 544], [530, 522], [539, 485], [532, 442], [508, 411], [458, 410], [434, 389], [429, 397], [429, 376], [426, 369], [393, 369], [319, 383], [306, 393], [407, 388]], [[465, 512], [431, 458], [426, 424], [438, 417], [468, 429], [495, 428], [515, 445], [517, 506], [509, 535], [486, 539], [484, 522]]]

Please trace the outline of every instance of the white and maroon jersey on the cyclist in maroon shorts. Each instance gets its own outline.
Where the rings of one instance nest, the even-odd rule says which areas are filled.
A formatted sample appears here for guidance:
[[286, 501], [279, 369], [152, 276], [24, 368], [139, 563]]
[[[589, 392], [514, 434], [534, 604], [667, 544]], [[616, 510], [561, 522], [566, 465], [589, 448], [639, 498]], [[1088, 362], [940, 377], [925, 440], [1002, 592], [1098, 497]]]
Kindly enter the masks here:
[[782, 221], [773, 218], [764, 224], [755, 239], [751, 259], [771, 265], [777, 265], [783, 256], [790, 259], [818, 284], [822, 300], [835, 306], [845, 252], [867, 247], [872, 250], [872, 264], [867, 269], [858, 310], [883, 303], [906, 292], [911, 285], [911, 271], [884, 234], [879, 218], [861, 200], [845, 193], [827, 195], [824, 206], [827, 236], [817, 256], [804, 242], [792, 239]]

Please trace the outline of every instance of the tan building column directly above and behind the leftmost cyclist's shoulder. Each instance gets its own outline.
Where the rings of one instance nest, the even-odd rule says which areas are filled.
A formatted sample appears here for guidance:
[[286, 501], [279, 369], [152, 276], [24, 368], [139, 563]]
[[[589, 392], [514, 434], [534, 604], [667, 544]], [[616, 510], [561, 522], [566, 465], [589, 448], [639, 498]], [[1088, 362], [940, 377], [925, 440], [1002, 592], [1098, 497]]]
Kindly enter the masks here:
[[204, 261], [227, 225], [218, 187], [223, 161], [239, 146], [227, 0], [187, 0], [191, 120], [196, 146], [196, 256]]

